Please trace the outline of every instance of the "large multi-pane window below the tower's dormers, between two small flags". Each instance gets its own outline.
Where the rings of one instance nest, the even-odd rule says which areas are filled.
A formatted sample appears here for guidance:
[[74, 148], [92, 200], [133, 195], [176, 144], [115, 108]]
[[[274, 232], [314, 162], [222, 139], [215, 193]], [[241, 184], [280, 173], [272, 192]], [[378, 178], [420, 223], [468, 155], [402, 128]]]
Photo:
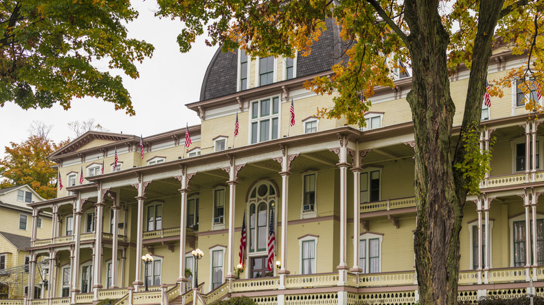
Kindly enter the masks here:
[[251, 143], [278, 139], [280, 97], [251, 103]]

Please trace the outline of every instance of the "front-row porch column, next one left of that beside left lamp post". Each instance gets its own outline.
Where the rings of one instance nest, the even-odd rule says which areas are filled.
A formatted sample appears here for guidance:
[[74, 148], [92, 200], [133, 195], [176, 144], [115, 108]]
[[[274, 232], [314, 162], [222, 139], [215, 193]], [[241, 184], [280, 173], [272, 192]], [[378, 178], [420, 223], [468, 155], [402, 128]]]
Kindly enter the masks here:
[[103, 288], [102, 286], [102, 233], [103, 233], [103, 223], [104, 223], [104, 190], [102, 188], [102, 183], [98, 187], [98, 199], [95, 203], [95, 233], [94, 233], [94, 261], [93, 261], [93, 294], [94, 301], [98, 301], [98, 289]]

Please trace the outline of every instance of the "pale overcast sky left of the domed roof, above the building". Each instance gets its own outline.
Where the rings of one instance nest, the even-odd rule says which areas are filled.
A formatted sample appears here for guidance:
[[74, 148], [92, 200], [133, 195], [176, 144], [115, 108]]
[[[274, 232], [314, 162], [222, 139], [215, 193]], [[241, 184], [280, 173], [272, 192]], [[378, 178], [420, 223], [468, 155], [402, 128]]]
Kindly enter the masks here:
[[0, 108], [0, 157], [10, 142], [27, 139], [33, 120], [54, 125], [50, 138], [54, 141], [74, 139], [68, 122], [94, 118], [109, 132], [143, 134], [144, 138], [168, 130], [196, 125], [200, 119], [185, 107], [199, 100], [204, 72], [216, 47], [206, 47], [204, 38], [195, 42], [187, 54], [179, 52], [176, 42], [181, 22], [154, 17], [155, 0], [131, 0], [139, 11], [138, 19], [128, 24], [129, 36], [145, 40], [155, 46], [153, 58], [138, 64], [139, 79], [123, 77], [130, 92], [135, 116], [114, 109], [114, 104], [96, 98], [75, 99], [72, 108], [65, 111], [59, 105], [51, 109], [22, 110], [13, 103]]

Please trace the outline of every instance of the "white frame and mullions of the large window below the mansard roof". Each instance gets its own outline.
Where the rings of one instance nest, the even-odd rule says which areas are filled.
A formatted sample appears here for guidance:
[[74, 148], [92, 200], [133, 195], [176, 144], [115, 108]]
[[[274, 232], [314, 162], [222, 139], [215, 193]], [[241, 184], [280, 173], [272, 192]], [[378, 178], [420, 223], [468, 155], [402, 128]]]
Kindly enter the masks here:
[[[278, 101], [278, 112], [274, 113], [274, 100], [277, 99]], [[270, 111], [269, 114], [266, 116], [262, 115], [262, 104], [264, 101], [269, 100], [270, 103]], [[255, 110], [255, 104], [257, 105], [257, 109]], [[257, 116], [253, 118], [254, 112], [257, 111]], [[262, 97], [257, 100], [251, 100], [249, 102], [249, 120], [248, 120], [248, 130], [249, 130], [249, 136], [248, 136], [248, 144], [257, 144], [262, 143], [266, 141], [271, 141], [275, 139], [280, 138], [280, 132], [281, 132], [281, 112], [282, 112], [282, 101], [279, 95], [270, 95], [267, 97]], [[274, 136], [274, 120], [277, 120], [278, 122], [278, 130], [276, 130], [275, 138]], [[269, 125], [269, 133], [267, 138], [265, 140], [261, 140], [261, 125], [262, 122], [268, 121]], [[256, 124], [256, 130], [253, 130], [253, 124]], [[253, 132], [256, 132], [257, 134], [254, 136]], [[253, 140], [255, 138], [255, 141]]]

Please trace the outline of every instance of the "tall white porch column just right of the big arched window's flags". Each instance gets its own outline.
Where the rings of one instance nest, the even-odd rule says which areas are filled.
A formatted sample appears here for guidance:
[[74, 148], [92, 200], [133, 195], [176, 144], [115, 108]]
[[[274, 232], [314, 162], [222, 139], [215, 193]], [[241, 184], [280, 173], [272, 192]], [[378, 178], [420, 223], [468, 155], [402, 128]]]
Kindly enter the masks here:
[[282, 171], [280, 175], [282, 177], [282, 226], [281, 226], [281, 253], [280, 253], [280, 271], [278, 275], [280, 276], [280, 286], [278, 289], [285, 289], [285, 276], [289, 275], [289, 269], [287, 269], [287, 211], [289, 210], [289, 175], [291, 172], [291, 162], [299, 154], [288, 155], [287, 146], [281, 146], [282, 148], [282, 157], [274, 158], [276, 162], [279, 162], [282, 166]]

